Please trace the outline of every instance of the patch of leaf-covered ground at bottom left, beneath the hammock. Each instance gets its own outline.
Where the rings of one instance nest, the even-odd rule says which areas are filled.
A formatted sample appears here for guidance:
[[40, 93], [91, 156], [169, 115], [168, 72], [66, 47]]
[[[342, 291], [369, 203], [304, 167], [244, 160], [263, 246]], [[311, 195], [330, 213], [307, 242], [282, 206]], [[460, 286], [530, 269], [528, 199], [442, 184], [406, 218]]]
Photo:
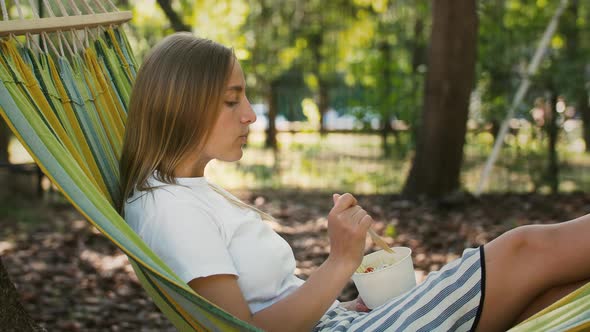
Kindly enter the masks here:
[[35, 217], [28, 216], [26, 224], [0, 215], [0, 255], [25, 309], [41, 326], [175, 331], [141, 288], [127, 257], [73, 207], [28, 204]]

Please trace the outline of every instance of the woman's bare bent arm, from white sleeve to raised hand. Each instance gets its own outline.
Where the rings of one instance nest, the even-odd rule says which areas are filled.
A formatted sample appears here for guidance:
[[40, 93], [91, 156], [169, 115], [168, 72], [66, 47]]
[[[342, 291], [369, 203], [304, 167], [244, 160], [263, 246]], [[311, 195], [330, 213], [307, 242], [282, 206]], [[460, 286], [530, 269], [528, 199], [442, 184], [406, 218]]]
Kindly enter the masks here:
[[330, 256], [289, 296], [252, 314], [233, 275], [214, 275], [189, 282], [197, 293], [236, 317], [267, 331], [311, 330], [338, 297], [364, 252], [370, 216], [350, 194], [334, 196], [328, 215]]

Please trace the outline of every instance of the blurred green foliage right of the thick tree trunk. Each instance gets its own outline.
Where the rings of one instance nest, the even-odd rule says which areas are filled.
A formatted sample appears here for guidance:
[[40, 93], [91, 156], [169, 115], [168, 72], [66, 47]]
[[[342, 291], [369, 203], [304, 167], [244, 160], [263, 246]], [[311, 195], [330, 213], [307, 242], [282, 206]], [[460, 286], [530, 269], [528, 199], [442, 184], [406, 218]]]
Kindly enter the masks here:
[[[577, 4], [577, 12], [572, 11]], [[475, 116], [482, 122], [504, 119], [515, 91], [525, 75], [526, 66], [559, 1], [495, 0], [479, 5], [479, 56], [477, 88], [481, 107]], [[579, 94], [584, 64], [588, 63], [588, 3], [571, 1], [559, 21], [559, 29], [551, 40], [548, 57], [543, 61], [534, 84], [520, 109], [528, 116], [533, 101], [548, 89], [569, 96], [570, 102]], [[568, 45], [574, 50], [568, 51]]]

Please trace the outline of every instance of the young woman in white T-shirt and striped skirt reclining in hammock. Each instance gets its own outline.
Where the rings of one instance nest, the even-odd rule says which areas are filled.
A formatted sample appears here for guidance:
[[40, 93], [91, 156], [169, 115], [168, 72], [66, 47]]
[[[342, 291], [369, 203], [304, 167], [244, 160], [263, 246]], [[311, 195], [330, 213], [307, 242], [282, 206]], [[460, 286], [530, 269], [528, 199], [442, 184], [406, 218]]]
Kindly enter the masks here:
[[[501, 331], [590, 277], [590, 219], [519, 227], [370, 312], [336, 298], [363, 257], [371, 217], [334, 195], [330, 254], [306, 280], [287, 242], [203, 177], [238, 161], [256, 121], [231, 49], [190, 34], [161, 41], [133, 88], [121, 158], [125, 219], [196, 292], [269, 331]], [[485, 295], [485, 296], [484, 296]]]

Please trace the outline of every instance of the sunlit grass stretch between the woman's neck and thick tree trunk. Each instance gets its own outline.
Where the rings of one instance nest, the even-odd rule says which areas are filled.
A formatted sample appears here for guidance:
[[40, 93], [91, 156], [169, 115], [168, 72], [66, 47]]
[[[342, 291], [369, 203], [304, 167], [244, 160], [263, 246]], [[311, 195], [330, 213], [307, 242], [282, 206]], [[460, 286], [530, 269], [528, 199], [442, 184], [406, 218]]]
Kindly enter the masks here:
[[212, 162], [206, 175], [233, 189], [299, 188], [356, 193], [395, 192], [409, 160], [384, 159], [375, 135], [281, 133], [280, 151], [261, 148], [263, 133], [254, 132], [239, 163]]

